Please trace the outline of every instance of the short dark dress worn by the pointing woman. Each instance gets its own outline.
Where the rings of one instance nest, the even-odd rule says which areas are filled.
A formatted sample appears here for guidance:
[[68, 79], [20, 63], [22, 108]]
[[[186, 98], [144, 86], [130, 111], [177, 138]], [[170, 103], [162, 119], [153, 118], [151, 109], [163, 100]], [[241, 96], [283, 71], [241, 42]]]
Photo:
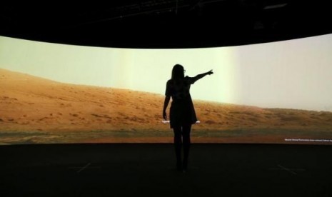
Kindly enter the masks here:
[[170, 79], [166, 84], [166, 96], [171, 96], [169, 112], [171, 128], [196, 123], [195, 108], [190, 96], [190, 86], [196, 79], [186, 76], [183, 79]]

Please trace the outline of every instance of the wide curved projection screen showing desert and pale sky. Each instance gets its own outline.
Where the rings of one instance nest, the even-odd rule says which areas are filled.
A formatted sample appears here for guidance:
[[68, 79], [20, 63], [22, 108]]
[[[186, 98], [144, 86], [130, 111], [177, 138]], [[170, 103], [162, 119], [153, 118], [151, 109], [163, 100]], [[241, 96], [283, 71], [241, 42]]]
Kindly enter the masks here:
[[332, 144], [331, 51], [332, 34], [206, 49], [0, 37], [0, 144], [172, 142], [162, 108], [175, 64], [214, 72], [191, 86], [193, 143]]

